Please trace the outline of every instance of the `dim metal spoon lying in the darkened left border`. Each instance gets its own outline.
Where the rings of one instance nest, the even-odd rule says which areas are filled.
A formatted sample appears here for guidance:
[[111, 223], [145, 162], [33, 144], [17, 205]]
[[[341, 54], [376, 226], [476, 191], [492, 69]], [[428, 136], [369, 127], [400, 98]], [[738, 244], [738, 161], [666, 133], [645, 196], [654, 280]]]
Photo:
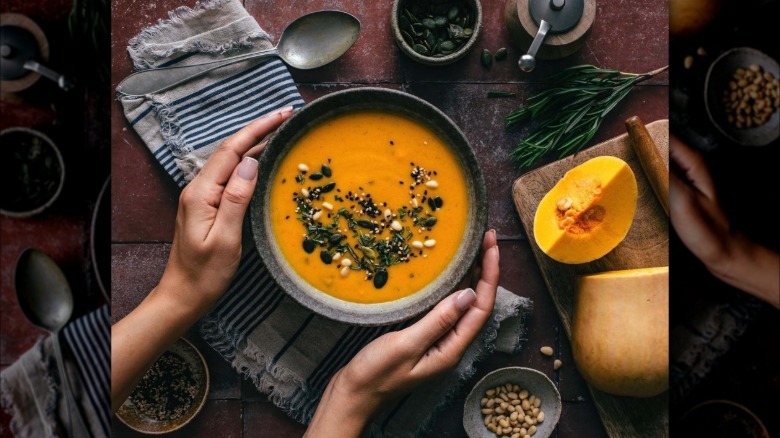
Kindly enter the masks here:
[[30, 248], [25, 250], [16, 262], [14, 283], [16, 297], [24, 315], [33, 325], [46, 330], [51, 335], [54, 357], [57, 359], [57, 368], [68, 409], [69, 436], [89, 437], [84, 419], [73, 398], [60, 350], [60, 330], [73, 314], [73, 294], [68, 280], [54, 260], [42, 251]]

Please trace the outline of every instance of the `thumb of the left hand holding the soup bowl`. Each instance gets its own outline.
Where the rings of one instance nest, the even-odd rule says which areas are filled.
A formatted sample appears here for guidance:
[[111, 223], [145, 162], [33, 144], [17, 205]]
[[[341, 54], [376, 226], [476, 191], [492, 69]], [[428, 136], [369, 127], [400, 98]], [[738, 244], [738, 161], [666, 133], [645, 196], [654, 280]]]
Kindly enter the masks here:
[[241, 235], [244, 214], [252, 199], [255, 185], [257, 185], [257, 160], [244, 157], [230, 176], [225, 190], [222, 191], [213, 229], [219, 230], [220, 233]]

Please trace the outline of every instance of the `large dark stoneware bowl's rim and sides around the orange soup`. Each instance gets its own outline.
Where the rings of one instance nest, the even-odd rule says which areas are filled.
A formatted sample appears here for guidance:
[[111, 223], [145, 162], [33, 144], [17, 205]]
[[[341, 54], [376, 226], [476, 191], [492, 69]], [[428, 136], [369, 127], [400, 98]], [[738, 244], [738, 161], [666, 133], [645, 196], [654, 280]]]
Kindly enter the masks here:
[[358, 110], [389, 111], [425, 124], [436, 133], [460, 161], [467, 178], [469, 208], [466, 230], [455, 257], [447, 268], [422, 290], [376, 304], [353, 303], [325, 294], [303, 280], [284, 259], [271, 228], [271, 187], [257, 184], [250, 206], [255, 245], [277, 284], [293, 299], [324, 317], [362, 326], [379, 326], [404, 321], [430, 309], [451, 293], [469, 271], [482, 242], [487, 223], [487, 196], [482, 172], [474, 151], [461, 130], [444, 113], [410, 94], [384, 88], [355, 88], [338, 91], [309, 103], [277, 131], [259, 159], [259, 172], [273, 181], [287, 152], [312, 127], [335, 116]]

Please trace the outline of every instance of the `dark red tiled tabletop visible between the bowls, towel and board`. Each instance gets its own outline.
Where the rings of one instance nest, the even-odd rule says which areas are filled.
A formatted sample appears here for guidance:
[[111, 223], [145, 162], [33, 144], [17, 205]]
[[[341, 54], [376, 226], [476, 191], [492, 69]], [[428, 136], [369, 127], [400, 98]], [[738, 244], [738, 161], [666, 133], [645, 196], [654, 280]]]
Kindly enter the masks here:
[[[181, 3], [173, 0], [129, 4], [114, 0], [113, 22], [113, 84], [131, 72], [124, 50], [130, 37], [143, 27], [167, 17], [167, 11]], [[247, 0], [245, 6], [274, 41], [287, 23], [304, 13], [320, 9], [339, 9], [352, 13], [362, 23], [361, 36], [355, 46], [338, 61], [314, 71], [293, 70], [293, 78], [305, 101], [333, 91], [355, 86], [381, 86], [400, 89], [432, 103], [461, 127], [474, 147], [485, 175], [489, 199], [488, 225], [496, 228], [501, 242], [501, 285], [527, 296], [534, 302], [527, 339], [520, 353], [496, 353], [478, 364], [476, 375], [466, 383], [463, 394], [436, 419], [437, 436], [463, 437], [461, 425], [463, 397], [488, 372], [503, 366], [526, 366], [541, 370], [559, 385], [564, 409], [557, 437], [605, 436], [587, 386], [577, 373], [571, 359], [571, 347], [560, 326], [558, 314], [534, 260], [529, 243], [524, 238], [511, 199], [513, 181], [532, 169], [518, 169], [507, 154], [527, 134], [529, 125], [507, 131], [503, 118], [519, 107], [528, 97], [541, 90], [539, 82], [562, 67], [592, 63], [600, 67], [628, 72], [644, 72], [666, 65], [667, 10], [666, 2], [654, 0], [641, 4], [616, 5], [598, 3], [597, 21], [583, 50], [559, 61], [540, 62], [531, 75], [522, 74], [516, 66], [519, 49], [507, 42], [504, 26], [504, 2], [483, 1], [485, 30], [476, 50], [464, 60], [443, 68], [415, 64], [405, 57], [392, 39], [390, 2], [367, 4], [350, 0], [274, 2]], [[482, 47], [493, 51], [507, 47], [508, 59], [496, 62], [485, 70], [478, 62]], [[609, 114], [591, 144], [625, 132], [623, 122], [638, 115], [649, 123], [667, 118], [668, 75], [662, 74], [637, 87]], [[488, 91], [512, 91], [510, 99], [488, 99]], [[112, 170], [114, 172], [115, 242], [112, 271], [115, 279], [114, 315], [129, 312], [156, 284], [167, 260], [173, 237], [178, 189], [151, 157], [139, 138], [127, 127], [120, 106], [112, 111]], [[536, 167], [553, 161], [542, 160]], [[196, 332], [188, 337], [199, 348], [202, 344]], [[554, 358], [539, 349], [549, 345], [555, 349], [564, 365], [553, 370]], [[214, 390], [210, 397], [241, 404], [229, 404], [230, 417], [242, 418], [244, 436], [300, 436], [304, 428], [268, 402], [267, 396], [232, 371], [226, 361], [213, 351], [204, 352], [212, 369]], [[224, 379], [224, 381], [223, 381]], [[216, 383], [216, 382], [220, 383]], [[210, 415], [204, 412], [202, 416]]]

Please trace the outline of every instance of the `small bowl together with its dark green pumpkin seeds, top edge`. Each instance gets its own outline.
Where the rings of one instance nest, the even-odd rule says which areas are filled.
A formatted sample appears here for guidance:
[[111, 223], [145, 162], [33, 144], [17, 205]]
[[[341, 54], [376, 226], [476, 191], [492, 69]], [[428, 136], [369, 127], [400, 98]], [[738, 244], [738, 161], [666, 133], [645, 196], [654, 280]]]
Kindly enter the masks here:
[[475, 45], [482, 28], [479, 0], [394, 0], [393, 36], [409, 58], [449, 65]]

